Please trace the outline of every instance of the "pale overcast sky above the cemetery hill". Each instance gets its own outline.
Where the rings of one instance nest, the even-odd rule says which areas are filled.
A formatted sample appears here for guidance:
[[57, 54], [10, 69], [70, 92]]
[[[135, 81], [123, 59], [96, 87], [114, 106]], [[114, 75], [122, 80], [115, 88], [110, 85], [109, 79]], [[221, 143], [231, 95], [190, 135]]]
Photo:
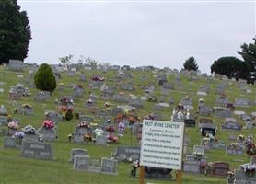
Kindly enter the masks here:
[[194, 56], [202, 72], [238, 56], [255, 33], [256, 3], [64, 2], [19, 0], [30, 20], [28, 63], [59, 63], [67, 54], [99, 63], [180, 69]]

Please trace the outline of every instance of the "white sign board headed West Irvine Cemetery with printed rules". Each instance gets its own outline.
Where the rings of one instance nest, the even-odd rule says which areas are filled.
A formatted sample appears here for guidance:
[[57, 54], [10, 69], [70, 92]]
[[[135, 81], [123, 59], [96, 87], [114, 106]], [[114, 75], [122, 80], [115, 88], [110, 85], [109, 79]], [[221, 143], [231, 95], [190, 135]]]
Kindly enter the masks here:
[[180, 170], [183, 134], [183, 122], [144, 120], [140, 165]]

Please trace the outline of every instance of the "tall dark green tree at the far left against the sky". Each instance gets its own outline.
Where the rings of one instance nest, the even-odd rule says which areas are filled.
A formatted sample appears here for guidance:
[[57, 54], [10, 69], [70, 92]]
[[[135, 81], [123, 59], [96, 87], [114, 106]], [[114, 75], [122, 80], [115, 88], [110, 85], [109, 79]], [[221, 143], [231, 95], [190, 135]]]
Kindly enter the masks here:
[[29, 51], [31, 31], [26, 11], [17, 0], [0, 1], [0, 64], [10, 59], [24, 60]]

